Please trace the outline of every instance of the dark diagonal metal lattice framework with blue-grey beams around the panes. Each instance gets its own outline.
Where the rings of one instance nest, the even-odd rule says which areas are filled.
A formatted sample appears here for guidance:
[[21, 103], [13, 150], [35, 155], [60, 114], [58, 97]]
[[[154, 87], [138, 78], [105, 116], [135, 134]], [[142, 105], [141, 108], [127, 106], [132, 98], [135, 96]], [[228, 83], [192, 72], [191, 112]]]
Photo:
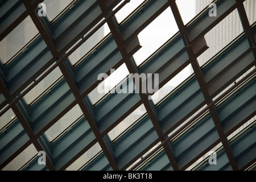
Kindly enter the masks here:
[[[256, 27], [249, 24], [243, 0], [213, 1], [218, 16], [210, 17], [209, 7], [205, 7], [187, 25], [174, 0], [144, 1], [122, 24], [114, 14], [129, 3], [127, 0], [115, 9], [121, 1], [73, 1], [72, 8], [55, 24], [38, 16], [37, 7], [43, 0], [6, 2], [0, 2], [1, 9], [6, 10], [1, 14], [0, 40], [27, 16], [40, 35], [10, 64], [0, 65], [1, 116], [10, 108], [16, 115], [0, 134], [1, 169], [31, 143], [37, 151], [46, 152], [46, 165], [39, 165], [36, 155], [24, 170], [64, 170], [96, 143], [102, 151], [80, 169], [185, 170], [218, 143], [218, 165], [210, 166], [203, 160], [193, 169], [255, 168], [255, 122], [228, 139], [255, 117]], [[141, 48], [137, 35], [167, 8], [171, 8], [179, 32], [138, 67], [132, 57]], [[200, 67], [197, 57], [208, 49], [204, 35], [236, 9], [243, 33]], [[73, 67], [68, 56], [104, 23], [108, 23], [111, 34]], [[130, 93], [110, 94], [93, 106], [88, 94], [100, 82], [97, 75], [109, 75], [111, 68], [123, 63], [130, 73], [159, 73], [159, 88], [189, 64], [194, 74], [158, 105], [148, 100], [147, 94]], [[24, 95], [56, 67], [63, 77], [28, 106]], [[44, 133], [77, 104], [84, 117], [50, 143]], [[146, 114], [112, 142], [109, 131], [142, 104]]]

